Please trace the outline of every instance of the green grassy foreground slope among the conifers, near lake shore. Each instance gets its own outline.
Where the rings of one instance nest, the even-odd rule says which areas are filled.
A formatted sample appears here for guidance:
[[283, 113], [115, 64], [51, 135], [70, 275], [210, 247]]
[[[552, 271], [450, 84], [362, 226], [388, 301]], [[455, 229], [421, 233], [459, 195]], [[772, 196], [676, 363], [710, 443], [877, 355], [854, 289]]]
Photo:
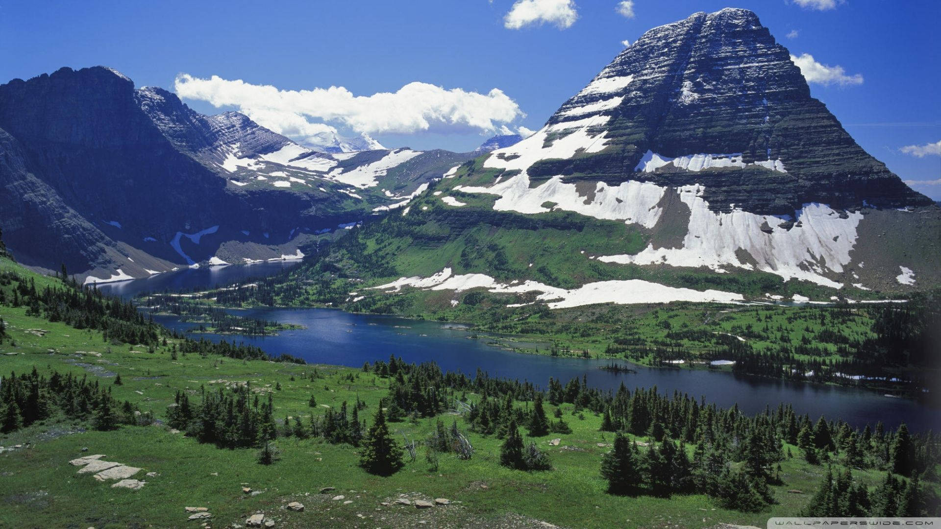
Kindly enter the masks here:
[[[37, 280], [40, 281], [52, 280]], [[11, 347], [7, 342], [2, 346], [3, 353], [16, 353], [0, 356], [0, 368], [5, 372], [23, 372], [35, 366], [44, 373], [56, 369], [81, 375], [86, 373], [85, 368], [69, 362], [80, 360], [76, 351], [100, 352], [103, 353], [100, 359], [85, 356], [81, 360], [120, 374], [123, 385], [111, 386], [115, 397], [136, 402], [145, 411], [153, 410], [158, 418], [164, 415], [176, 390], [195, 391], [200, 385], [215, 388], [209, 382], [218, 379], [250, 380], [254, 387], [264, 388], [263, 392], [271, 391], [279, 383], [282, 390], [275, 392], [279, 418], [309, 415], [311, 393], [318, 404], [334, 407], [359, 395], [369, 406], [363, 416], [371, 417], [388, 387], [387, 380], [342, 367], [194, 356], [170, 361], [164, 348], [154, 354], [135, 352], [140, 347], [133, 346], [111, 346], [109, 350], [97, 332], [25, 316], [23, 308], [3, 307], [2, 315], [17, 344]], [[40, 337], [25, 329], [46, 329], [49, 333]], [[323, 378], [311, 381], [302, 377], [314, 369]], [[354, 382], [341, 380], [349, 374], [359, 377]], [[291, 380], [292, 376], [295, 380]], [[112, 380], [102, 378], [103, 383]], [[553, 407], [547, 408], [547, 412], [553, 411]], [[569, 411], [571, 405], [564, 405], [563, 409]], [[56, 436], [49, 432], [68, 426], [50, 420], [0, 438], [0, 444], [5, 446], [32, 443], [29, 448], [0, 456], [4, 475], [0, 480], [0, 499], [5, 505], [3, 519], [17, 527], [70, 523], [95, 527], [129, 524], [166, 527], [187, 523], [195, 526], [197, 523], [186, 521], [183, 513], [183, 506], [189, 505], [210, 507], [219, 525], [240, 523], [256, 510], [279, 517], [281, 527], [354, 526], [362, 522], [357, 514], [372, 517], [369, 526], [376, 527], [411, 526], [420, 520], [436, 526], [471, 522], [480, 526], [518, 525], [518, 519], [507, 518], [510, 513], [572, 527], [677, 524], [703, 527], [720, 521], [763, 525], [769, 516], [795, 513], [809, 494], [789, 494], [786, 490], [810, 492], [823, 472], [821, 467], [808, 466], [796, 458], [786, 460], [785, 485], [774, 488], [779, 504], [758, 514], [713, 510], [712, 502], [701, 495], [672, 499], [612, 497], [603, 492], [604, 484], [598, 475], [600, 455], [608, 448], [597, 445], [610, 442], [612, 435], [598, 432], [599, 417], [589, 414], [580, 420], [567, 413], [566, 417], [574, 430], [572, 434], [550, 434], [536, 440], [549, 449], [555, 466], [552, 472], [504, 469], [498, 464], [500, 441], [470, 433], [470, 441], [477, 449], [470, 461], [442, 457], [439, 471], [430, 472], [420, 451], [416, 462], [408, 463], [405, 470], [390, 478], [360, 470], [355, 449], [346, 445], [279, 440], [282, 459], [274, 466], [263, 467], [255, 463], [254, 450], [220, 450], [200, 445], [180, 434], [168, 433], [161, 426], [124, 426], [115, 432], [74, 433], [50, 440]], [[432, 420], [391, 425], [396, 435], [418, 440], [432, 426]], [[546, 442], [554, 437], [562, 438], [561, 446], [549, 448]], [[76, 474], [75, 467], [67, 463], [81, 456], [83, 447], [88, 447], [88, 453], [106, 454], [109, 460], [160, 475], [138, 476], [148, 481], [139, 491], [110, 489], [91, 476]], [[796, 449], [792, 451], [797, 453]], [[873, 485], [881, 478], [874, 472], [855, 474]], [[247, 496], [241, 492], [243, 483], [264, 492]], [[342, 505], [329, 500], [331, 495], [317, 494], [318, 489], [327, 486], [336, 487], [338, 490], [332, 494], [344, 494], [353, 503]], [[379, 505], [400, 493], [412, 492], [424, 497], [446, 497], [460, 504], [429, 511]], [[307, 510], [294, 513], [282, 508], [294, 500], [307, 505]]]

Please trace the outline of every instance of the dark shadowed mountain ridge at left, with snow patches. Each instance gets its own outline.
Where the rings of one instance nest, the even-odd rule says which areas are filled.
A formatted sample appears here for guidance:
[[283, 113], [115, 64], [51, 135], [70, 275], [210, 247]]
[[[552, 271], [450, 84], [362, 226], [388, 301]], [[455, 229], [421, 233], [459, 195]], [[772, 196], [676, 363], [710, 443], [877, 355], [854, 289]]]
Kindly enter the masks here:
[[0, 86], [0, 149], [9, 247], [24, 264], [98, 279], [297, 256], [315, 232], [373, 215], [468, 157], [313, 152], [103, 67]]

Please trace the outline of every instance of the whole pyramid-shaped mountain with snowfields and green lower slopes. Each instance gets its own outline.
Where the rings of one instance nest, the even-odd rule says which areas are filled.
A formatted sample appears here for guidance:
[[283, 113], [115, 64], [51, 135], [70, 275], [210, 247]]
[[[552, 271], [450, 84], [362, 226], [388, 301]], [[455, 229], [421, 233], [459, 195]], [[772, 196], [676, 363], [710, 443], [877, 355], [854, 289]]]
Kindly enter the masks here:
[[[455, 303], [471, 288], [551, 308], [941, 283], [941, 209], [853, 141], [745, 9], [651, 29], [533, 136], [452, 168], [384, 223], [377, 241], [429, 254], [384, 256], [402, 280], [383, 289]], [[454, 257], [408, 267], [435, 252]]]

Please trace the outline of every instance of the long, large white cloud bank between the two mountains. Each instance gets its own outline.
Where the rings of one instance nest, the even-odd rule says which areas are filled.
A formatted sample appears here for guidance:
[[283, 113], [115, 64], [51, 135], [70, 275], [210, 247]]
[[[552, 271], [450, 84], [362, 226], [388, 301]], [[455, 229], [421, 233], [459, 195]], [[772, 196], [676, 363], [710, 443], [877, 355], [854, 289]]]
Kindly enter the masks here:
[[262, 126], [302, 141], [336, 132], [320, 121], [363, 134], [464, 133], [493, 132], [500, 124], [524, 116], [519, 105], [498, 88], [482, 94], [414, 82], [395, 92], [358, 96], [343, 87], [281, 90], [188, 73], [178, 75], [174, 86], [184, 99], [235, 106]]

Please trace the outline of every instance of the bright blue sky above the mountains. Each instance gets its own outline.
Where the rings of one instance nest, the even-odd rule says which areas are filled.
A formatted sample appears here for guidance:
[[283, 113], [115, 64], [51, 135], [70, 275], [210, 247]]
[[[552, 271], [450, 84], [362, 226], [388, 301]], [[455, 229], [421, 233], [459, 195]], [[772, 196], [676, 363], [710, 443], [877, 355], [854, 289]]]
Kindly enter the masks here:
[[[556, 9], [545, 24], [507, 19], [514, 0], [0, 0], [0, 82], [103, 64], [138, 87], [173, 89], [186, 73], [280, 90], [343, 87], [333, 95], [349, 101], [350, 93], [372, 96], [423, 83], [405, 90], [409, 97], [374, 98], [374, 106], [349, 110], [359, 115], [319, 121], [343, 134], [367, 131], [388, 147], [467, 151], [486, 138], [487, 123], [538, 129], [623, 49], [622, 40], [632, 42], [695, 11], [750, 8], [793, 55], [843, 68], [846, 83], [811, 84], [811, 92], [865, 149], [903, 180], [941, 182], [941, 156], [901, 152], [941, 140], [939, 2], [634, 0], [630, 18], [615, 12], [618, 0], [550, 2], [569, 4], [574, 17]], [[514, 25], [520, 27], [508, 27]], [[853, 81], [857, 74], [861, 83]], [[438, 99], [470, 117], [455, 125], [432, 122], [428, 129], [406, 119], [408, 104]], [[205, 113], [232, 108], [185, 101]], [[363, 108], [390, 106], [403, 115], [380, 123], [362, 116]], [[941, 184], [915, 187], [941, 200]]]

